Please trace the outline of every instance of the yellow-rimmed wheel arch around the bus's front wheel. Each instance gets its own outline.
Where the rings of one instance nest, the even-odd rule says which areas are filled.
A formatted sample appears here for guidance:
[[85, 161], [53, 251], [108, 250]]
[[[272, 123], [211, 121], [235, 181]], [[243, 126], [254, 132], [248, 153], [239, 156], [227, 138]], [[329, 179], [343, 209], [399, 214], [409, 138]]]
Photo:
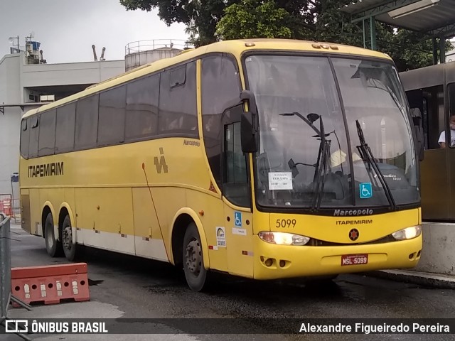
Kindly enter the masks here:
[[169, 261], [173, 265], [178, 265], [183, 263], [182, 257], [182, 249], [183, 249], [183, 237], [185, 236], [186, 228], [188, 224], [194, 222], [196, 224], [196, 228], [198, 229], [200, 243], [203, 247], [203, 261], [204, 261], [204, 268], [210, 268], [210, 260], [208, 257], [208, 244], [207, 239], [205, 237], [205, 232], [203, 229], [203, 224], [200, 221], [196, 212], [191, 210], [188, 207], [181, 208], [176, 212], [174, 215], [172, 224], [171, 224], [171, 233], [169, 233], [169, 240], [168, 245], [170, 245], [169, 250]]

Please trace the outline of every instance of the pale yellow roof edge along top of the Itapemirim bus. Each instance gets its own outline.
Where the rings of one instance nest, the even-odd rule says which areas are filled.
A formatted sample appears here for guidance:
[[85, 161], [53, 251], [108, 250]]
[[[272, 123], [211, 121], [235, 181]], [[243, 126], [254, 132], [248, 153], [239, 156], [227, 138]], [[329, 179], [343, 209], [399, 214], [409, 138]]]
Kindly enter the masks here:
[[201, 46], [200, 48], [183, 50], [182, 53], [172, 58], [164, 58], [156, 60], [153, 63], [142, 65], [134, 68], [128, 72], [124, 72], [121, 75], [112, 77], [109, 80], [97, 83], [87, 89], [73, 94], [71, 96], [59, 99], [58, 101], [45, 104], [42, 107], [31, 109], [23, 117], [29, 117], [37, 112], [43, 112], [54, 107], [59, 107], [62, 104], [73, 102], [76, 99], [86, 97], [90, 94], [101, 92], [102, 90], [115, 87], [129, 80], [134, 80], [149, 73], [153, 73], [159, 70], [163, 70], [166, 67], [171, 67], [178, 63], [183, 63], [186, 60], [191, 60], [205, 55], [207, 53], [232, 53], [232, 55], [240, 56], [247, 50], [290, 50], [299, 52], [320, 52], [320, 53], [338, 53], [346, 55], [363, 55], [365, 57], [383, 58], [392, 60], [389, 55], [380, 53], [378, 51], [367, 50], [365, 48], [356, 48], [349, 45], [342, 45], [336, 43], [322, 43], [308, 40], [291, 40], [291, 39], [239, 39], [239, 40], [225, 40], [210, 45]]

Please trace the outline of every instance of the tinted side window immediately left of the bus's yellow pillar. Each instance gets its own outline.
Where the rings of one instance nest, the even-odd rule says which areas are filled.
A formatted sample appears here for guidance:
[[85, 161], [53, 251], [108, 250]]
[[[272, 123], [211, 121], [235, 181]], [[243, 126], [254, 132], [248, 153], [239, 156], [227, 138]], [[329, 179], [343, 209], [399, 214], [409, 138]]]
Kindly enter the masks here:
[[177, 134], [198, 138], [196, 62], [186, 64], [185, 68], [185, 82], [173, 87], [171, 87], [171, 82], [181, 80], [178, 75], [181, 74], [182, 67], [161, 72], [159, 134]]

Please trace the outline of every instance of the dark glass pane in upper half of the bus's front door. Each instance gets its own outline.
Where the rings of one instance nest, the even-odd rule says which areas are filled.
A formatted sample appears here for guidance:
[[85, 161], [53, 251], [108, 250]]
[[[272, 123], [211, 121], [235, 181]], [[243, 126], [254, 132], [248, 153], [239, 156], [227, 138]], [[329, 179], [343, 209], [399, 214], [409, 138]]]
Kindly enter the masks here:
[[[233, 110], [241, 107], [236, 107]], [[250, 207], [247, 158], [240, 143], [240, 122], [224, 126], [223, 195], [234, 205]]]

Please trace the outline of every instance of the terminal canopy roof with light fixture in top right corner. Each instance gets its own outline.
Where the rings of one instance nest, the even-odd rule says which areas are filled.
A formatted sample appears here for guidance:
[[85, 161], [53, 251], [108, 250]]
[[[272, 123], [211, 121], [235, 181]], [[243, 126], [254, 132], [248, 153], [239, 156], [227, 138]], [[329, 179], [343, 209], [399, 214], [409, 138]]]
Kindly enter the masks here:
[[341, 11], [353, 23], [374, 17], [433, 37], [455, 36], [455, 0], [352, 0]]

